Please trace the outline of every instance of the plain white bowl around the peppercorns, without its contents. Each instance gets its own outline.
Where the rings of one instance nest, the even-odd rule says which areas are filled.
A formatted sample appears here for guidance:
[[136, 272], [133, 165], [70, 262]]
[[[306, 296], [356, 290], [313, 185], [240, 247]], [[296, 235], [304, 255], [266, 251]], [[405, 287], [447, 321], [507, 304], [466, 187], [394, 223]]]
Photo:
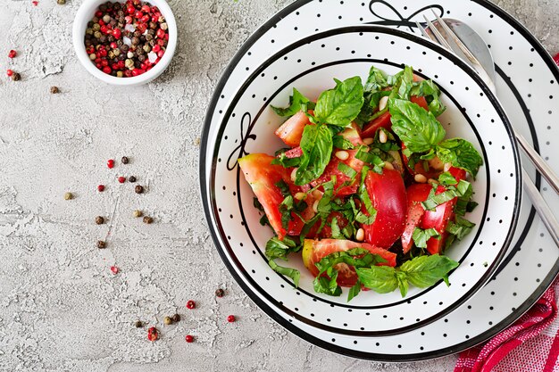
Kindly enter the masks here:
[[[116, 2], [125, 3], [124, 0], [113, 1], [113, 3]], [[157, 78], [171, 63], [172, 57], [175, 54], [175, 48], [177, 47], [177, 22], [175, 21], [175, 16], [173, 15], [167, 2], [165, 0], [146, 1], [146, 3], [159, 8], [163, 17], [165, 17], [165, 21], [167, 21], [167, 25], [169, 26], [169, 41], [167, 43], [165, 54], [163, 54], [161, 60], [151, 70], [146, 71], [146, 73], [143, 73], [142, 75], [130, 78], [116, 78], [109, 74], [105, 74], [102, 70], [98, 70], [96, 65], [89, 59], [88, 53], [86, 52], [84, 37], [86, 35], [86, 29], [88, 28], [88, 21], [91, 21], [94, 17], [99, 5], [104, 3], [106, 3], [106, 0], [86, 0], [83, 4], [81, 4], [78, 12], [76, 13], [72, 30], [72, 39], [79, 62], [81, 62], [83, 67], [85, 67], [91, 75], [107, 84], [115, 86], [139, 86]]]

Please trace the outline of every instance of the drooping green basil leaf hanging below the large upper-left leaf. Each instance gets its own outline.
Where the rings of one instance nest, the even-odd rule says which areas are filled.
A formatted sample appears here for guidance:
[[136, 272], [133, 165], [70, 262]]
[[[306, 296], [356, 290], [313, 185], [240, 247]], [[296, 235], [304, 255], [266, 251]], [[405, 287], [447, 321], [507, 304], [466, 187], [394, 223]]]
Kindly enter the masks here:
[[296, 170], [295, 184], [306, 185], [321, 177], [330, 162], [332, 153], [332, 134], [324, 125], [307, 125], [301, 138], [301, 163]]

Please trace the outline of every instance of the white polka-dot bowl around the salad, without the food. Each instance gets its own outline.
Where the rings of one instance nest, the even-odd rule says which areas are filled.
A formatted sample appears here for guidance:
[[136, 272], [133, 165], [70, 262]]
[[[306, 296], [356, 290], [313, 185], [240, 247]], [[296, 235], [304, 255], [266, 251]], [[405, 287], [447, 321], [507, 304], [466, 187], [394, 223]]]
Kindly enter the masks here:
[[[302, 273], [300, 286], [272, 271], [263, 255], [272, 236], [259, 223], [254, 194], [239, 172], [237, 160], [246, 153], [269, 153], [282, 147], [274, 135], [281, 124], [270, 104], [285, 105], [292, 87], [316, 97], [332, 87], [333, 78], [366, 78], [371, 65], [394, 74], [404, 64], [434, 79], [444, 92], [446, 112], [439, 120], [447, 136], [460, 136], [480, 150], [484, 166], [473, 182], [480, 203], [469, 219], [477, 224], [470, 236], [446, 254], [461, 262], [451, 283], [399, 293], [346, 296], [313, 292], [313, 277], [294, 258], [288, 265]], [[248, 67], [247, 67], [248, 68]], [[496, 98], [480, 78], [453, 54], [419, 37], [378, 26], [335, 29], [288, 45], [254, 68], [230, 97], [213, 146], [210, 178], [211, 215], [218, 249], [246, 293], [271, 311], [296, 318], [311, 327], [339, 335], [395, 335], [423, 327], [454, 310], [488, 281], [513, 237], [520, 209], [520, 160], [511, 127]], [[499, 228], [488, 228], [488, 221]], [[269, 312], [270, 313], [270, 312]], [[272, 315], [272, 314], [271, 314]], [[272, 315], [273, 316], [273, 315]]]

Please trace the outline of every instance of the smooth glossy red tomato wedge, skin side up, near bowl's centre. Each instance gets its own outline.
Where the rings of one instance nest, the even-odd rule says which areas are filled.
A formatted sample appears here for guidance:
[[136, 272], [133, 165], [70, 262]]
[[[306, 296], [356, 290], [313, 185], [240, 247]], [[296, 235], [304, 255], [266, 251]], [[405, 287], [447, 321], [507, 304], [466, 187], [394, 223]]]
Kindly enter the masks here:
[[[383, 169], [379, 174], [367, 173], [365, 187], [377, 217], [371, 225], [363, 225], [365, 242], [381, 248], [389, 248], [402, 236], [407, 210], [404, 179], [397, 170]], [[364, 203], [362, 211], [366, 212]]]

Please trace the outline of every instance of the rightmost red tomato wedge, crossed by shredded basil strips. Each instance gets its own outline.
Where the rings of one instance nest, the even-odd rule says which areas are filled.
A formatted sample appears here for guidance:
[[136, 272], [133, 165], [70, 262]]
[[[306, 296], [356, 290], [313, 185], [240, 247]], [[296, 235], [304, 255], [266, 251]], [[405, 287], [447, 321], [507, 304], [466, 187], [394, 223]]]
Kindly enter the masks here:
[[[463, 169], [458, 169], [450, 167], [448, 172], [453, 175], [456, 181], [466, 178], [466, 172]], [[435, 194], [441, 194], [445, 192], [446, 188], [444, 186], [438, 186]], [[443, 252], [445, 247], [446, 236], [446, 226], [448, 226], [448, 221], [455, 219], [455, 205], [457, 198], [449, 200], [448, 202], [442, 203], [435, 208], [435, 211], [425, 211], [423, 219], [421, 220], [421, 228], [434, 228], [440, 234], [440, 239], [435, 239], [431, 237], [427, 241], [427, 252], [430, 254], [437, 254]]]

